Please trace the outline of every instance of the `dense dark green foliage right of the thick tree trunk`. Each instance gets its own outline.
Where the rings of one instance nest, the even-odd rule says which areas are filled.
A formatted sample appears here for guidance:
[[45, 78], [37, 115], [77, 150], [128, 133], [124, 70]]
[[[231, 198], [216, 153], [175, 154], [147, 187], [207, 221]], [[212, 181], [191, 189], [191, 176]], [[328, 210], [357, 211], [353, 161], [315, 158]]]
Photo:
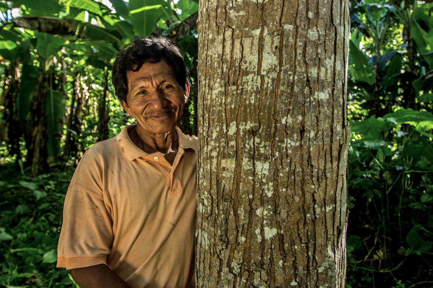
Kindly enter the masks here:
[[349, 288], [433, 287], [432, 2], [352, 1]]

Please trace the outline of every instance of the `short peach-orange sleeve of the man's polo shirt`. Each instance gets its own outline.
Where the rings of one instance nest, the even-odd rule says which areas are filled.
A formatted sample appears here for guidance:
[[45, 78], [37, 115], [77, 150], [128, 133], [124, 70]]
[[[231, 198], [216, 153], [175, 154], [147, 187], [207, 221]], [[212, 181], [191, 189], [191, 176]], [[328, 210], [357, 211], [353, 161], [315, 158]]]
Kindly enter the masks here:
[[[80, 163], [75, 171], [63, 208], [57, 267], [66, 269], [107, 265], [113, 244], [112, 219], [105, 206], [100, 185], [89, 183], [97, 180], [92, 175], [95, 170], [80, 169], [82, 165]], [[79, 180], [83, 178], [87, 180]]]

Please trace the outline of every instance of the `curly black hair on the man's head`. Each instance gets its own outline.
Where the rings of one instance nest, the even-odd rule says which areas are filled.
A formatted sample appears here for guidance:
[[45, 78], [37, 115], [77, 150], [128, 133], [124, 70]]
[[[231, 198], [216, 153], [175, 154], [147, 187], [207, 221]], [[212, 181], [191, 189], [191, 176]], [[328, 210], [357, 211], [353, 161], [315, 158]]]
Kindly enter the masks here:
[[126, 103], [128, 95], [128, 78], [126, 73], [138, 71], [146, 63], [158, 63], [165, 60], [174, 70], [176, 81], [185, 89], [190, 84], [188, 69], [178, 47], [164, 37], [139, 38], [133, 37], [125, 48], [117, 52], [113, 63], [111, 82], [114, 85], [116, 96]]

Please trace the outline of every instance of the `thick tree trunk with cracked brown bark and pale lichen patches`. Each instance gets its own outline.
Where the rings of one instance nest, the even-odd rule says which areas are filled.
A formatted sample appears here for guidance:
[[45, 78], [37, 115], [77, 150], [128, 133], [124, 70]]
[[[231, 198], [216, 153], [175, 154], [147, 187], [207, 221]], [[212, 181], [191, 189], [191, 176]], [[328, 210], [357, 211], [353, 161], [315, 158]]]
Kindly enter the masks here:
[[344, 287], [348, 1], [199, 11], [197, 287]]

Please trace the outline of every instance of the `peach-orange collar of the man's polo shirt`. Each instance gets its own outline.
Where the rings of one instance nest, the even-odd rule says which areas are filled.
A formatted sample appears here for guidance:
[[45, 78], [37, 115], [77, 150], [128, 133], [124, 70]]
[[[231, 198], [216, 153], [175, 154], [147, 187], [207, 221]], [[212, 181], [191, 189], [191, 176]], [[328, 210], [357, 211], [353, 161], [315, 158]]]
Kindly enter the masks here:
[[[117, 134], [116, 139], [119, 143], [120, 149], [122, 149], [123, 154], [125, 154], [126, 158], [129, 161], [132, 161], [136, 158], [140, 158], [145, 155], [149, 155], [149, 153], [144, 152], [142, 149], [138, 148], [129, 138], [128, 132], [131, 131], [137, 127], [137, 125], [127, 125], [123, 127], [122, 131], [120, 131], [119, 134]], [[194, 149], [191, 146], [190, 141], [188, 138], [182, 133], [182, 131], [176, 127], [175, 128], [176, 133], [178, 134], [178, 142], [179, 142], [179, 148], [182, 149]], [[194, 149], [195, 150], [195, 149]]]

